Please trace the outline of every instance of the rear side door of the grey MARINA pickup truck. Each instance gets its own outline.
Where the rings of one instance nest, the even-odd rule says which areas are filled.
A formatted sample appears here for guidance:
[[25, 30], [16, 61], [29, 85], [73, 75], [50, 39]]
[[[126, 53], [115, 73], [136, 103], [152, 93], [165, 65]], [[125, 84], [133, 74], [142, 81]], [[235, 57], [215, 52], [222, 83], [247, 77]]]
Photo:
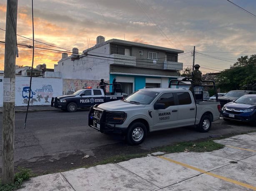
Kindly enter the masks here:
[[178, 126], [194, 125], [196, 105], [188, 92], [178, 92]]

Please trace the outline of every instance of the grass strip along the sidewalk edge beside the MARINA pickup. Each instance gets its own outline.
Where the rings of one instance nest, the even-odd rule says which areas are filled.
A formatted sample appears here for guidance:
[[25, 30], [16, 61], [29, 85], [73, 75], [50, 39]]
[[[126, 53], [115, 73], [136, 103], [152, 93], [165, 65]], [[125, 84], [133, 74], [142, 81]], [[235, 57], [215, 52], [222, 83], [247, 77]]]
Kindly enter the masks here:
[[169, 146], [160, 147], [157, 150], [161, 152], [211, 152], [221, 149], [224, 145], [216, 143], [212, 140], [202, 142], [178, 142]]

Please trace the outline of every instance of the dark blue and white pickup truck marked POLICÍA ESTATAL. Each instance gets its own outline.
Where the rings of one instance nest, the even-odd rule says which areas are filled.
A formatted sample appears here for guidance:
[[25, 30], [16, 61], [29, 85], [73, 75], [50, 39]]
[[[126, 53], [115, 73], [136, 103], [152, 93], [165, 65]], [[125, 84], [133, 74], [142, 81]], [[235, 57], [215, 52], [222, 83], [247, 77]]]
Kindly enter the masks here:
[[88, 108], [95, 104], [121, 99], [123, 99], [122, 93], [118, 93], [115, 95], [111, 95], [111, 93], [106, 93], [105, 95], [103, 89], [85, 88], [76, 91], [72, 95], [58, 96], [52, 98], [51, 106], [62, 110], [68, 110], [68, 112], [75, 112], [77, 108]]

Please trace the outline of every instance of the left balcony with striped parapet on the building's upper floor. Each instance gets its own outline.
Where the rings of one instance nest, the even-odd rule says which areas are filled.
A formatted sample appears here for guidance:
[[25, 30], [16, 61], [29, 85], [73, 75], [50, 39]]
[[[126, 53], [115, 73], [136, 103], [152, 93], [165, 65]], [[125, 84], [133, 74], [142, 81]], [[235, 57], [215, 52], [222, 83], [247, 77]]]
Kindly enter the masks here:
[[110, 54], [110, 64], [118, 64], [125, 66], [136, 66], [136, 57], [135, 56], [125, 56], [120, 54]]

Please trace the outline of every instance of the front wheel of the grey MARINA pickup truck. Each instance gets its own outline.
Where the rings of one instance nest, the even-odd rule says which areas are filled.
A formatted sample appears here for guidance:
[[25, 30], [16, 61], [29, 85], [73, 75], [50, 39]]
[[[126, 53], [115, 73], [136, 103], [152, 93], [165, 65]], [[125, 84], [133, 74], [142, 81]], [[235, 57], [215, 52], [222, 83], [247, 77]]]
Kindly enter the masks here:
[[141, 122], [134, 122], [128, 128], [126, 141], [131, 145], [141, 144], [147, 135], [146, 126]]

